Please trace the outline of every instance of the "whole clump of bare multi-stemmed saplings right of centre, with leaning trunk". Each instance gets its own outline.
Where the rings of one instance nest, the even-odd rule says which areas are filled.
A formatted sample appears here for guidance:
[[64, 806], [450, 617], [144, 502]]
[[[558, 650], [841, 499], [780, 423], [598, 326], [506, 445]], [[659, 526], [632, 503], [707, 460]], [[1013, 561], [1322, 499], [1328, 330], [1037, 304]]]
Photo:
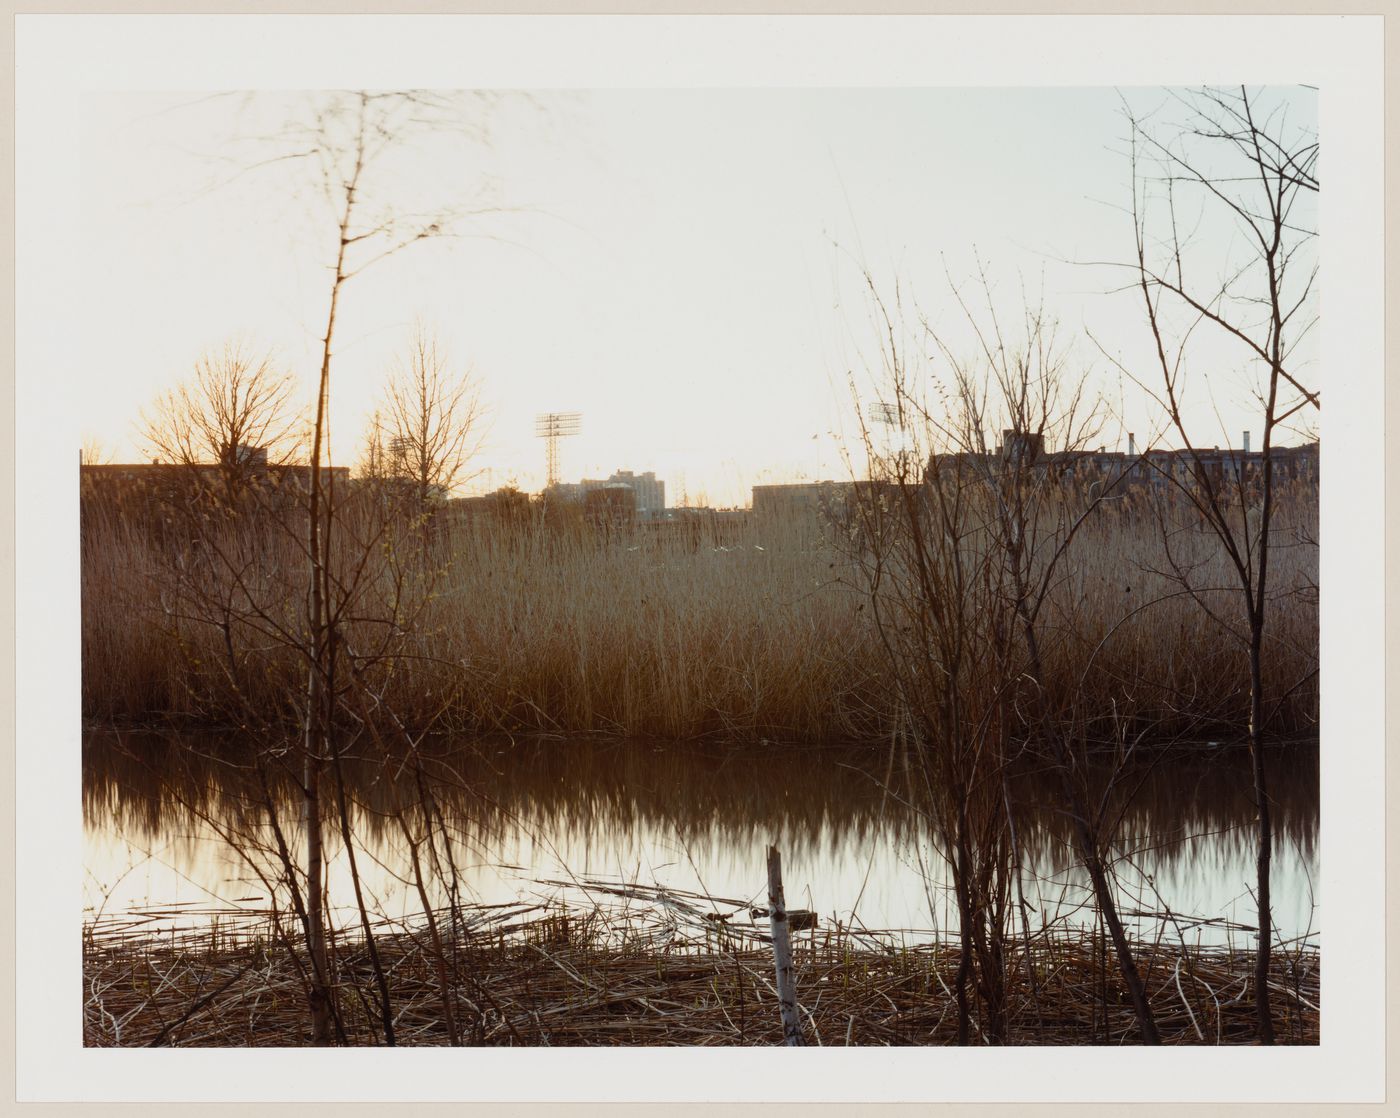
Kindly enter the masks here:
[[[1012, 890], [1029, 947], [1009, 775], [1029, 756], [1057, 775], [1060, 807], [1074, 823], [1075, 851], [1141, 1037], [1156, 1044], [1117, 911], [1109, 789], [1091, 786], [1084, 712], [1077, 709], [1082, 680], [1065, 679], [1063, 665], [1072, 658], [1046, 618], [1081, 526], [1116, 480], [1096, 490], [1067, 488], [1056, 476], [1099, 434], [1102, 410], [1042, 308], [1028, 305], [1018, 329], [1004, 333], [986, 277], [986, 315], [962, 304], [977, 341], [970, 360], [928, 320], [917, 327], [913, 351], [931, 346], [949, 368], [941, 379], [907, 362], [902, 308], [888, 306], [868, 274], [867, 284], [881, 334], [881, 417], [897, 424], [900, 445], [881, 451], [862, 427], [871, 481], [855, 490], [855, 556], [944, 835], [962, 943], [959, 1041], [970, 1037], [970, 984], [987, 1038], [1008, 1040]], [[1002, 432], [1000, 446], [988, 445], [988, 424]], [[1056, 469], [1046, 452], [1051, 441]], [[1110, 772], [1110, 786], [1119, 775], [1117, 768]]]

